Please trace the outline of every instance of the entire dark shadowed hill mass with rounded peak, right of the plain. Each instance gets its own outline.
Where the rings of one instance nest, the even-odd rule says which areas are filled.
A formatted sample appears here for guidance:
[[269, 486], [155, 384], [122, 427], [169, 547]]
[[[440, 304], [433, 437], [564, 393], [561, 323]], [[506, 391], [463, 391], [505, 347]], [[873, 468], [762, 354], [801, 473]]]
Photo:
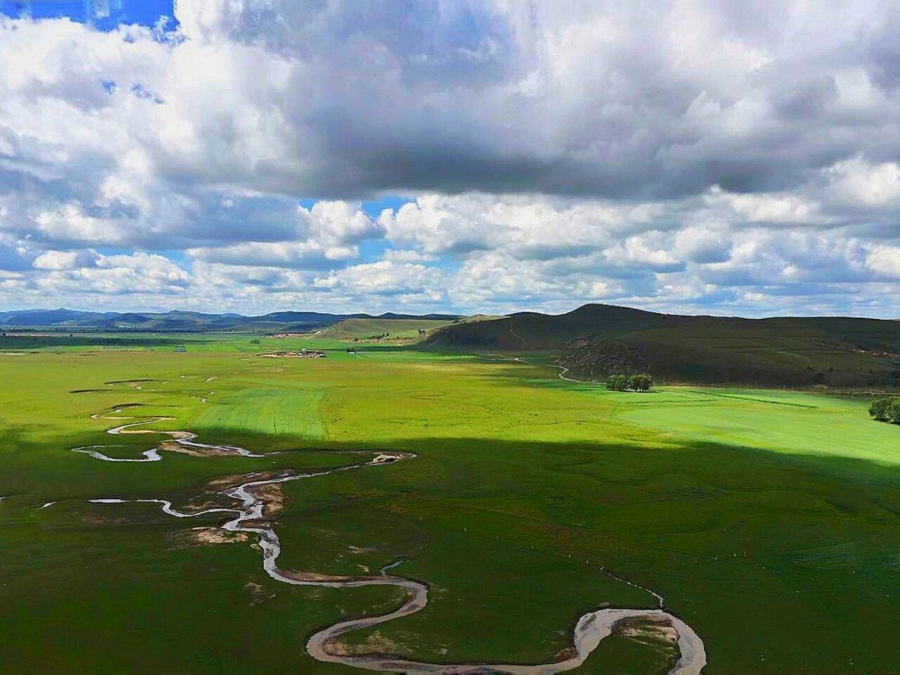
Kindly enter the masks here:
[[900, 321], [680, 316], [590, 304], [431, 333], [437, 348], [550, 351], [582, 378], [647, 371], [693, 383], [898, 387]]

